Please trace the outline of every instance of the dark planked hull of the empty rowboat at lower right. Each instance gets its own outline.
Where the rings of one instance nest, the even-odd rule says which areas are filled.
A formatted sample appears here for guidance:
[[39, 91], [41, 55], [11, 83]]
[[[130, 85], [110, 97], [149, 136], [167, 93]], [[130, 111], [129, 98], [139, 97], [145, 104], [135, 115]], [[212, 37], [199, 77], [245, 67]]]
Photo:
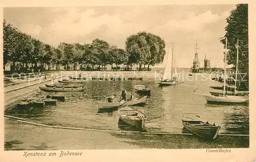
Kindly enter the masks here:
[[214, 140], [217, 137], [221, 128], [220, 126], [197, 126], [189, 124], [189, 121], [184, 120], [182, 120], [182, 124], [184, 128], [186, 128], [189, 132], [203, 137], [207, 140]]

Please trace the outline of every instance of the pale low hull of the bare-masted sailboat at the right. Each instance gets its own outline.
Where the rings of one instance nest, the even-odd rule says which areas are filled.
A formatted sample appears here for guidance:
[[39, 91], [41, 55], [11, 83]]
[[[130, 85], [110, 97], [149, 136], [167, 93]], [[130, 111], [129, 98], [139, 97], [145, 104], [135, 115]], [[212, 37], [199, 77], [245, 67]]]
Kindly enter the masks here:
[[248, 100], [245, 98], [233, 97], [221, 97], [221, 96], [212, 96], [212, 95], [204, 95], [204, 98], [209, 103], [245, 103]]

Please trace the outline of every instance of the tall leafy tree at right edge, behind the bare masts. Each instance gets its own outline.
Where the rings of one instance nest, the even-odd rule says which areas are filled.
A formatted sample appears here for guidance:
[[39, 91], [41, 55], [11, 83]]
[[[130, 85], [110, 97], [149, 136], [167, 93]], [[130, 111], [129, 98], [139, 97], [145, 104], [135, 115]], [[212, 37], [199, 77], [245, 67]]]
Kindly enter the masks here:
[[228, 40], [227, 63], [236, 67], [237, 61], [237, 40], [239, 39], [239, 69], [249, 74], [248, 57], [248, 5], [238, 4], [237, 8], [231, 11], [226, 18], [225, 36], [221, 38], [221, 43], [225, 48], [225, 39]]

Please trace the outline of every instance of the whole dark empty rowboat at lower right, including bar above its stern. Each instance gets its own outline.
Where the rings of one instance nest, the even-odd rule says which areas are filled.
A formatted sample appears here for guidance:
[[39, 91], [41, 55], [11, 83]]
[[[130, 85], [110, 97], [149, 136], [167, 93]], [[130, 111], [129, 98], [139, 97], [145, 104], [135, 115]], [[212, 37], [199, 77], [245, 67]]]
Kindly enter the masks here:
[[[197, 113], [197, 112], [183, 112], [183, 113]], [[199, 116], [197, 115], [199, 118]], [[209, 124], [208, 122], [202, 122], [197, 119], [192, 118], [184, 118], [182, 119], [182, 124], [184, 128], [186, 128], [189, 132], [196, 134], [200, 137], [203, 137], [207, 140], [214, 140], [220, 130], [220, 126], [216, 126], [215, 124]]]

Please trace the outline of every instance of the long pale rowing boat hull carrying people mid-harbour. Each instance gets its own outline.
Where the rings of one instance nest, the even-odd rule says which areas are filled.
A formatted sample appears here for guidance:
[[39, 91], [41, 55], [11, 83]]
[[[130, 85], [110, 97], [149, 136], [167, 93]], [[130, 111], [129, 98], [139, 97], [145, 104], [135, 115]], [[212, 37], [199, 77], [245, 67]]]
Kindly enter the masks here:
[[146, 102], [147, 96], [144, 96], [142, 98], [136, 98], [133, 101], [126, 101], [126, 102], [102, 102], [98, 103], [99, 108], [115, 108], [119, 106], [132, 106], [137, 104], [142, 104]]

